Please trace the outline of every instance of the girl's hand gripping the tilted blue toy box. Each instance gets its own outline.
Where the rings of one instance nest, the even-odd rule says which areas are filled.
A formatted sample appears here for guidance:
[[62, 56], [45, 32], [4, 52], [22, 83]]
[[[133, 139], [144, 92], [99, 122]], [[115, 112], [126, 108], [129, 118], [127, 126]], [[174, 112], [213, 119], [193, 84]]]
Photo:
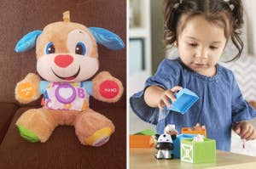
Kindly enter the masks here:
[[159, 109], [163, 110], [165, 108], [165, 105], [167, 105], [168, 107], [171, 107], [172, 104], [170, 103], [170, 99], [172, 100], [172, 102], [176, 101], [174, 94], [181, 89], [183, 89], [183, 87], [175, 86], [175, 87], [172, 87], [171, 89], [163, 91], [160, 94], [160, 99], [158, 101]]

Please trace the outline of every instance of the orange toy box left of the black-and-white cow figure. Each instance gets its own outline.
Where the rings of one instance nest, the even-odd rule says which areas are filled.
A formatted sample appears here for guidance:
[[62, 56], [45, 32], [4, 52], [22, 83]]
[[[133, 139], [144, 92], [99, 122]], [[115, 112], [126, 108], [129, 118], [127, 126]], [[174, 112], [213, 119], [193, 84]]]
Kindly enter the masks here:
[[146, 135], [130, 135], [130, 148], [152, 148], [154, 138]]

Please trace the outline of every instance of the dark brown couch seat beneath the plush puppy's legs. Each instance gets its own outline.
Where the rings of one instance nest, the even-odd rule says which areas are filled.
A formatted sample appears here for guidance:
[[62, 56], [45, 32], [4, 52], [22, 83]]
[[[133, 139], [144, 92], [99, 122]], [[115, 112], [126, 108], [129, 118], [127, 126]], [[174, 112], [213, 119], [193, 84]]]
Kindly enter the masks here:
[[79, 144], [73, 127], [57, 127], [44, 143], [32, 144], [20, 137], [15, 121], [28, 108], [21, 108], [0, 146], [0, 168], [125, 168], [125, 109], [97, 109], [116, 127], [108, 143], [98, 147]]

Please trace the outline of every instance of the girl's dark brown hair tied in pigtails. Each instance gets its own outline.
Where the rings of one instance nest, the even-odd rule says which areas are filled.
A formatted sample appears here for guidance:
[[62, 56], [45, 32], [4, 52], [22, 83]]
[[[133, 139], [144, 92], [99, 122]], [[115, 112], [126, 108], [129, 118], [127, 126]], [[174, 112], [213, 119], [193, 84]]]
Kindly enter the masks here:
[[[241, 26], [243, 24], [243, 7], [241, 0], [165, 0], [165, 41], [166, 45], [173, 45], [177, 41], [178, 33], [183, 31], [187, 20], [195, 15], [203, 15], [206, 20], [224, 26], [224, 36], [238, 49], [238, 54], [231, 59], [241, 56], [243, 42], [241, 41]], [[179, 23], [182, 14], [188, 17]], [[230, 60], [230, 61], [231, 61]]]

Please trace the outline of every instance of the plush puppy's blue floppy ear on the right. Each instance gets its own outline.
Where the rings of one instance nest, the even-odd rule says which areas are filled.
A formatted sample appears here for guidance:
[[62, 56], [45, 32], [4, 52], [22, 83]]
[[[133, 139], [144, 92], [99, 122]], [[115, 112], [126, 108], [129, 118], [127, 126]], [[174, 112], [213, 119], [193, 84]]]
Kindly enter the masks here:
[[89, 30], [96, 39], [96, 42], [102, 44], [104, 47], [112, 50], [125, 48], [125, 43], [112, 31], [100, 27], [89, 27]]

